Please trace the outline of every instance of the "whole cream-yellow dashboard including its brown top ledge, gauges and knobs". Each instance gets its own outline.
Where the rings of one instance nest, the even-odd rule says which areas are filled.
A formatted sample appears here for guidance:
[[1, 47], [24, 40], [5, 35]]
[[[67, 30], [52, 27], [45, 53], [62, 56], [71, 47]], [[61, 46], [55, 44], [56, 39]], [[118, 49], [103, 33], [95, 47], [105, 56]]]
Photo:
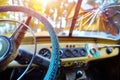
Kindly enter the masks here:
[[[93, 60], [110, 58], [118, 55], [119, 45], [117, 41], [93, 38], [66, 38], [59, 37], [61, 66], [85, 66]], [[27, 37], [20, 48], [34, 51], [33, 39]], [[37, 38], [37, 55], [50, 59], [52, 46], [49, 37]], [[14, 65], [14, 63], [10, 63]]]

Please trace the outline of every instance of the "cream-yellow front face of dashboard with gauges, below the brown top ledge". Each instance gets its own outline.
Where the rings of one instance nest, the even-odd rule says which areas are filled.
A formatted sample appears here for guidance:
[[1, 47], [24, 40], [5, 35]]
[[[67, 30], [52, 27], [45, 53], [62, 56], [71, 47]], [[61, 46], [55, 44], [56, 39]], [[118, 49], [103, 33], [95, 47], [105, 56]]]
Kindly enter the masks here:
[[[89, 40], [90, 41], [90, 40]], [[61, 66], [67, 67], [72, 65], [83, 66], [93, 60], [101, 60], [104, 58], [110, 58], [118, 55], [119, 45], [115, 45], [115, 42], [102, 41], [94, 42], [82, 42], [82, 43], [60, 43], [60, 62]], [[41, 46], [42, 45], [42, 46]], [[22, 46], [29, 50], [33, 49], [33, 45]], [[38, 44], [38, 55], [50, 59], [52, 54], [51, 44]]]

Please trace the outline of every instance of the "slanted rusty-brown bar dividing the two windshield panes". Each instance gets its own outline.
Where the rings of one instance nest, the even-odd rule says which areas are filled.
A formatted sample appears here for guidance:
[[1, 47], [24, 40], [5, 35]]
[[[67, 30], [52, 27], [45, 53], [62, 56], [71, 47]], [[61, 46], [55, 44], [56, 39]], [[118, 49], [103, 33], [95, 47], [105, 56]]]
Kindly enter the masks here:
[[76, 20], [78, 18], [78, 15], [79, 15], [79, 10], [80, 10], [80, 7], [81, 7], [81, 3], [82, 3], [82, 0], [78, 0], [77, 6], [75, 8], [74, 16], [73, 16], [73, 19], [72, 19], [72, 24], [71, 24], [71, 27], [70, 27], [69, 37], [72, 36], [72, 32], [74, 30], [75, 23], [76, 23]]

